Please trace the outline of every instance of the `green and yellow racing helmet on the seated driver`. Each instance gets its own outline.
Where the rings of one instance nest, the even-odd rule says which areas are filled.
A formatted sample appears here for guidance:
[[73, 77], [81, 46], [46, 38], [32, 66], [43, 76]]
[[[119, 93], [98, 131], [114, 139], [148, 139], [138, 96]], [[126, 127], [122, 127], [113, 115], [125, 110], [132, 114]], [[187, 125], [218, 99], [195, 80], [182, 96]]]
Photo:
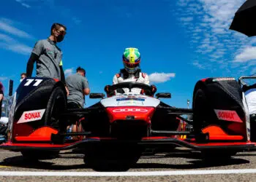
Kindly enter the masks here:
[[123, 53], [124, 69], [134, 74], [140, 68], [140, 52], [137, 48], [126, 48]]

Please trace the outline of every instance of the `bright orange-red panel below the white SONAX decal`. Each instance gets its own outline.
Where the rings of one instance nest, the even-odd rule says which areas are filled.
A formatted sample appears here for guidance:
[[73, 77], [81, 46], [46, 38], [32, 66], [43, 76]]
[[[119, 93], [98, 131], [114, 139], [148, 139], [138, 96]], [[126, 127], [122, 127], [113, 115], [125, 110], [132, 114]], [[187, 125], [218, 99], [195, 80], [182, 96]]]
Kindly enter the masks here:
[[50, 141], [51, 134], [57, 134], [58, 130], [51, 127], [40, 127], [29, 136], [16, 136], [16, 141]]

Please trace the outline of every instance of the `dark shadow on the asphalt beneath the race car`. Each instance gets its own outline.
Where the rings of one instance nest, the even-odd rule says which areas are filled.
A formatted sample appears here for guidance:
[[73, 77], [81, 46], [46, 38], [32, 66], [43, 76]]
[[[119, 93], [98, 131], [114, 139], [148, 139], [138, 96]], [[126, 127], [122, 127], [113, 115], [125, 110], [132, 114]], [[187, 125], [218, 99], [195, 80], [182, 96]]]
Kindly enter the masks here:
[[[239, 156], [237, 154], [236, 156]], [[241, 156], [241, 155], [240, 155]], [[200, 158], [199, 152], [176, 152], [171, 154], [159, 154], [155, 156], [143, 156], [141, 159], [166, 159], [166, 158], [185, 158], [185, 159], [192, 159], [186, 161], [185, 164], [161, 164], [161, 163], [137, 163], [132, 165], [131, 169], [197, 169], [197, 168], [205, 168], [205, 167], [220, 167], [220, 166], [228, 166], [228, 165], [241, 165], [249, 163], [246, 159], [237, 159], [237, 158], [230, 158], [230, 159], [219, 159], [215, 161], [206, 161]], [[83, 155], [79, 154], [75, 156], [70, 155], [63, 155], [61, 154], [58, 159], [81, 159], [83, 160]], [[171, 160], [170, 160], [171, 161]], [[184, 163], [184, 162], [183, 162]], [[3, 162], [0, 162], [0, 165], [10, 166], [10, 167], [23, 167], [23, 168], [30, 168], [30, 169], [41, 169], [41, 170], [75, 170], [75, 169], [90, 169], [85, 164], [79, 165], [58, 165], [53, 162], [49, 161], [34, 161], [29, 162], [28, 160], [24, 159], [23, 156], [16, 156], [4, 159]]]

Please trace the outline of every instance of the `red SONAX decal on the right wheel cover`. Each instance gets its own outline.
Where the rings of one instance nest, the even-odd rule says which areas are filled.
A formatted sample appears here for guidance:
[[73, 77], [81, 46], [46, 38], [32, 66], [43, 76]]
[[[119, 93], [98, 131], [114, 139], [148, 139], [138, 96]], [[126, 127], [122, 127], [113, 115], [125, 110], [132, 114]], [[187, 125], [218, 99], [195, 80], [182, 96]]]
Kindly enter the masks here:
[[231, 122], [242, 122], [236, 111], [230, 110], [218, 110], [214, 109], [218, 119], [231, 121]]

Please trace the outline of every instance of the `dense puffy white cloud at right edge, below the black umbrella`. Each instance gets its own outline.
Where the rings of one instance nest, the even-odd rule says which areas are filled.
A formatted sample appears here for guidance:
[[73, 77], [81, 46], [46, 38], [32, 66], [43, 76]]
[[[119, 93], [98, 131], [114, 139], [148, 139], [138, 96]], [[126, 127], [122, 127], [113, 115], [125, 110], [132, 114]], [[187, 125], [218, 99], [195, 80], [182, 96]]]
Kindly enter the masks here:
[[256, 59], [256, 47], [246, 47], [240, 54], [236, 55], [234, 62], [247, 62]]

